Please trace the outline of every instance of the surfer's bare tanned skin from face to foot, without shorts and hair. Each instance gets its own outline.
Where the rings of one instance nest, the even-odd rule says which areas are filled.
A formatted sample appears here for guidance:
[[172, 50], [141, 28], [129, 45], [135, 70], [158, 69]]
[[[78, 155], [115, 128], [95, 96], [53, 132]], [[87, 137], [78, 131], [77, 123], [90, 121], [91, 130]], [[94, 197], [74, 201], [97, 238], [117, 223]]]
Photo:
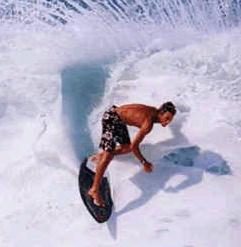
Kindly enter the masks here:
[[95, 162], [97, 166], [94, 182], [88, 194], [98, 206], [104, 206], [104, 202], [99, 193], [99, 187], [104, 172], [114, 156], [132, 152], [136, 158], [142, 162], [143, 170], [145, 172], [152, 172], [153, 165], [142, 155], [139, 145], [145, 136], [151, 132], [154, 123], [159, 123], [163, 127], [166, 127], [173, 119], [171, 112], [160, 113], [157, 108], [143, 104], [122, 105], [115, 110], [126, 125], [135, 126], [139, 128], [139, 131], [131, 144], [120, 145], [117, 146], [113, 152], [102, 151], [91, 157], [91, 160]]

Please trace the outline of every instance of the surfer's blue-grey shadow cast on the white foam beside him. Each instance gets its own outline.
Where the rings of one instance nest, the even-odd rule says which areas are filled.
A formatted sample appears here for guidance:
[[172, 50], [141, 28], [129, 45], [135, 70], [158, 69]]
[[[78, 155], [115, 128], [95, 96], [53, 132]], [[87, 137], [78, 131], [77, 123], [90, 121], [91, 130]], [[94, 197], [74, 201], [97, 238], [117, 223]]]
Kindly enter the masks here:
[[[181, 132], [186, 117], [175, 120], [171, 125], [173, 137], [157, 144], [144, 144], [143, 153], [149, 160], [154, 160], [154, 171], [146, 174], [143, 171], [135, 174], [130, 180], [137, 186], [141, 195], [130, 201], [124, 208], [116, 212], [114, 217], [135, 210], [147, 203], [160, 190], [166, 193], [178, 193], [202, 181], [204, 172], [214, 175], [230, 175], [231, 169], [220, 154], [212, 151], [202, 151], [200, 147], [189, 143]], [[178, 147], [179, 146], [179, 147]], [[182, 146], [180, 148], [180, 146]], [[129, 163], [133, 159], [127, 158]], [[168, 186], [167, 182], [175, 175], [185, 178], [175, 186]]]

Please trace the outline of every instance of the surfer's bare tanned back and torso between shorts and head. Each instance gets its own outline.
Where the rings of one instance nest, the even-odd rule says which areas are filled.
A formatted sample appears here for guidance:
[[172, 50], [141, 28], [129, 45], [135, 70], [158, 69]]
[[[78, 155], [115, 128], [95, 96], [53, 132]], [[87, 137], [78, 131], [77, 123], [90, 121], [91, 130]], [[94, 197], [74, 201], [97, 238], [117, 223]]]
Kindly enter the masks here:
[[153, 125], [157, 109], [143, 104], [128, 104], [116, 108], [117, 114], [127, 125], [141, 128], [143, 124]]

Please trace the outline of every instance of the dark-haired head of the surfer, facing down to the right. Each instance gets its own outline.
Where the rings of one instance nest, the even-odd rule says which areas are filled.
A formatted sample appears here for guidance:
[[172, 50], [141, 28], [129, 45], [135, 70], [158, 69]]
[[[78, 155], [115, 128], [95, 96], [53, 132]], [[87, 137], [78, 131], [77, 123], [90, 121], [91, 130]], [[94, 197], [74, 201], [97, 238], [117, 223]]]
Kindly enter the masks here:
[[166, 127], [172, 121], [176, 112], [176, 107], [171, 101], [162, 104], [158, 109], [158, 122]]

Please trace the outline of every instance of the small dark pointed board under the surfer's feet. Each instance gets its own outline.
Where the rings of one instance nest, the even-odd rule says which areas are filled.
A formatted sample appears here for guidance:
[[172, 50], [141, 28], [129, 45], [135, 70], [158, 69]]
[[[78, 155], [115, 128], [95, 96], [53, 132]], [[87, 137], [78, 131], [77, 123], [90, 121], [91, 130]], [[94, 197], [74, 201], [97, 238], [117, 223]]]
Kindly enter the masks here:
[[93, 218], [99, 222], [106, 222], [112, 213], [113, 201], [111, 198], [111, 191], [108, 179], [106, 177], [102, 178], [100, 185], [100, 194], [104, 201], [105, 206], [99, 207], [94, 202], [93, 199], [88, 195], [88, 191], [93, 183], [95, 173], [87, 167], [88, 159], [85, 158], [80, 166], [79, 171], [79, 191], [81, 198], [84, 202], [89, 213]]

